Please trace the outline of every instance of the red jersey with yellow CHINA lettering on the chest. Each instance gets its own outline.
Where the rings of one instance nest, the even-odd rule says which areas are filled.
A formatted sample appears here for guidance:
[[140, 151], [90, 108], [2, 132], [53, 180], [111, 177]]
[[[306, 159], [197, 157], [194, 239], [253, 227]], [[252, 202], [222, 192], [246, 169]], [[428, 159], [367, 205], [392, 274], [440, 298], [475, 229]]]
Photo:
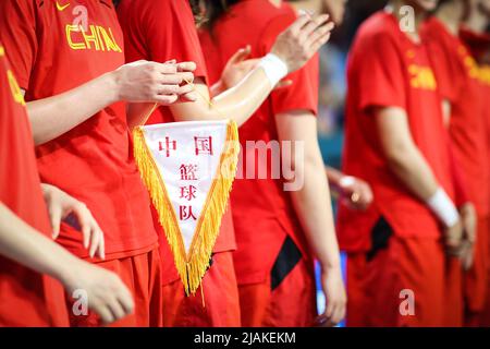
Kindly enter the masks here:
[[[109, 0], [2, 1], [0, 37], [26, 100], [59, 95], [124, 63]], [[105, 108], [37, 149], [41, 180], [84, 202], [106, 237], [106, 260], [155, 248], [150, 202], [133, 158], [123, 103]], [[62, 225], [59, 242], [88, 257], [82, 233]]]

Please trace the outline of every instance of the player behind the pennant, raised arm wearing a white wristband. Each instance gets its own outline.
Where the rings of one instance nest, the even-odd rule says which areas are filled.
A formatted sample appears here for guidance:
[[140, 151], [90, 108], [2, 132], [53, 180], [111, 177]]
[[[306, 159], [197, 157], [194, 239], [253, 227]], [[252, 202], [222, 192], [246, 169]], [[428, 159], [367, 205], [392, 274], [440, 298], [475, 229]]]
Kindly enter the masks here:
[[[303, 16], [278, 38], [271, 50], [264, 52], [264, 56], [269, 55], [235, 87], [230, 88], [234, 84], [223, 79], [210, 92], [192, 9], [199, 11], [198, 1], [192, 1], [191, 4], [182, 0], [120, 1], [118, 11], [125, 33], [128, 61], [151, 59], [164, 62], [177, 59], [197, 63], [195, 88], [204, 98], [198, 98], [194, 104], [159, 108], [149, 117], [147, 123], [230, 118], [238, 125], [243, 124], [287, 72], [302, 67], [328, 40], [331, 31], [331, 25], [326, 24], [326, 16], [316, 19]], [[298, 43], [299, 39], [304, 41]], [[238, 51], [229, 67], [246, 55], [246, 50]], [[222, 67], [220, 73], [221, 71]], [[212, 100], [212, 106], [208, 105], [209, 99]], [[163, 233], [160, 236], [163, 237]], [[228, 212], [223, 217], [213, 250], [212, 265], [203, 279], [206, 308], [203, 308], [200, 298], [184, 297], [164, 239], [161, 245], [162, 255], [166, 256], [163, 261], [166, 325], [238, 326], [240, 304], [231, 253], [235, 250], [231, 213]]]

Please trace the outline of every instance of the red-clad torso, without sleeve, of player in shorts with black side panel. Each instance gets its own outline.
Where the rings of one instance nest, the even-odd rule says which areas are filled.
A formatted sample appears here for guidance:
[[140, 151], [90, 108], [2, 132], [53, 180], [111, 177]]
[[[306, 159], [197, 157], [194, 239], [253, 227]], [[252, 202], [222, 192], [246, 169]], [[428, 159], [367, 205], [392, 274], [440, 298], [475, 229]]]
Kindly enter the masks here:
[[[291, 7], [274, 7], [268, 0], [245, 0], [230, 8], [212, 32], [203, 31], [209, 83], [218, 82], [228, 60], [241, 48], [250, 46], [250, 58], [268, 53], [269, 32], [273, 38], [295, 19]], [[313, 64], [318, 63], [317, 58]], [[238, 130], [242, 146], [237, 178], [231, 202], [237, 251], [234, 254], [238, 282], [264, 279], [286, 236], [291, 236], [308, 257], [304, 232], [298, 224], [290, 193], [284, 191], [280, 170], [281, 143], [271, 97]], [[278, 171], [279, 169], [279, 171]]]

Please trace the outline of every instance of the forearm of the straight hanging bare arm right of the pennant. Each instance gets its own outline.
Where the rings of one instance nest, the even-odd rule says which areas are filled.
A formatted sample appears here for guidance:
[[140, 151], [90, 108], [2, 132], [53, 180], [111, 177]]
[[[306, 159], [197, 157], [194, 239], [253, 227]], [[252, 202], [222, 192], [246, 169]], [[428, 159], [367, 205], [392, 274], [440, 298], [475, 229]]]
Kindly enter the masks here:
[[339, 245], [321, 156], [306, 159], [304, 170], [303, 188], [291, 193], [295, 210], [322, 268], [339, 267]]

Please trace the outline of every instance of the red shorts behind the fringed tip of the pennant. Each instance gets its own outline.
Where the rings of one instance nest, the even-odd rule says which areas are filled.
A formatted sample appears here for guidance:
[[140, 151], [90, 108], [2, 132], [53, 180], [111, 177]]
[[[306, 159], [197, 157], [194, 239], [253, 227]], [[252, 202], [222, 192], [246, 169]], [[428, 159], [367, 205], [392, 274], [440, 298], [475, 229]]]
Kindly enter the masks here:
[[[240, 327], [233, 252], [218, 252], [195, 296], [185, 297], [181, 280], [162, 287], [163, 326]], [[204, 300], [203, 300], [204, 298]]]

